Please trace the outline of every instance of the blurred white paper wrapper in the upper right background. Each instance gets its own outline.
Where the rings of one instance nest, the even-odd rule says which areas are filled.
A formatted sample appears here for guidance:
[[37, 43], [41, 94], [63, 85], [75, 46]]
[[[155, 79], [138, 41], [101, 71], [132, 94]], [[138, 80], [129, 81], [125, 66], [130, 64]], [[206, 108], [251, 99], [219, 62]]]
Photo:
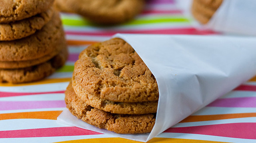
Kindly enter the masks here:
[[[190, 13], [193, 0], [179, 0], [179, 6]], [[204, 25], [215, 31], [226, 34], [256, 36], [256, 0], [223, 0], [221, 6]]]

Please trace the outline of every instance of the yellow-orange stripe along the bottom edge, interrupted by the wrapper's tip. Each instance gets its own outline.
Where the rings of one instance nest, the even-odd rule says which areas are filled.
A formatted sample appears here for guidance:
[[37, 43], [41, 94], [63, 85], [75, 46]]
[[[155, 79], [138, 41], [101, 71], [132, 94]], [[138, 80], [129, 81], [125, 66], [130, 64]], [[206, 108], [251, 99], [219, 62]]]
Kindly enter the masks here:
[[[147, 143], [226, 143], [226, 142], [214, 142], [205, 140], [195, 139], [176, 139], [176, 138], [153, 138]], [[123, 139], [123, 138], [93, 138], [93, 139], [79, 139], [79, 140], [68, 140], [58, 143], [141, 143], [134, 140]]]

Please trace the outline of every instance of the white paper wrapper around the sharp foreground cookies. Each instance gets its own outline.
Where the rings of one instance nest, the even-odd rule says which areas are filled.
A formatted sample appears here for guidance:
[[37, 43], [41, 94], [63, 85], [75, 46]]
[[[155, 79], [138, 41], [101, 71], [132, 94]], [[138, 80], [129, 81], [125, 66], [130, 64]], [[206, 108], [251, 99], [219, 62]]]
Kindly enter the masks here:
[[148, 141], [256, 74], [256, 38], [117, 34], [140, 55], [159, 88], [150, 134], [116, 134], [78, 120], [65, 110], [58, 122], [122, 138]]

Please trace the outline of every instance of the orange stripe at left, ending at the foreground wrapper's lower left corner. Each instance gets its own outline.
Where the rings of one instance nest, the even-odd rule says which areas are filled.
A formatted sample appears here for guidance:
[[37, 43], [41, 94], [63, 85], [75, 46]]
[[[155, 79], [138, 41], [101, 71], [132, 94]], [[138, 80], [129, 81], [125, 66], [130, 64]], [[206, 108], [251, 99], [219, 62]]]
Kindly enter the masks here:
[[50, 119], [57, 120], [62, 111], [40, 111], [0, 114], [0, 120], [8, 119]]

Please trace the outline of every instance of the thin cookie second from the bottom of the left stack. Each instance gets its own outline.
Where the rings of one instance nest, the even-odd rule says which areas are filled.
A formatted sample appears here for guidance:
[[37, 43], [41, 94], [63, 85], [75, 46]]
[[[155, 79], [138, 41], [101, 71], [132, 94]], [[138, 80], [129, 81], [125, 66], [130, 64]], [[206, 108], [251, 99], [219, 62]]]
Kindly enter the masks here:
[[63, 47], [66, 47], [66, 41], [64, 34], [61, 39], [59, 39], [59, 44], [53, 48], [53, 51], [43, 57], [33, 60], [24, 60], [24, 61], [0, 61], [0, 68], [1, 69], [18, 69], [18, 68], [26, 68], [33, 65], [38, 65], [40, 63], [44, 63], [45, 61], [50, 60], [55, 55], [57, 55]]

